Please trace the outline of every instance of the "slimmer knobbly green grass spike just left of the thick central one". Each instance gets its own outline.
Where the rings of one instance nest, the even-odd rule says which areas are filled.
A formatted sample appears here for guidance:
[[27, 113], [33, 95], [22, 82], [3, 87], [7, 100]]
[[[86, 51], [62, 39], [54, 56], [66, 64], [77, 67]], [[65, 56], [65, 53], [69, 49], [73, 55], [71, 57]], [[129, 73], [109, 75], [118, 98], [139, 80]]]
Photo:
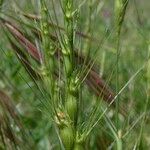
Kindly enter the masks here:
[[44, 61], [41, 66], [41, 75], [43, 78], [44, 85], [46, 90], [50, 94], [51, 104], [53, 105], [53, 113], [57, 114], [57, 93], [56, 91], [56, 80], [55, 80], [55, 52], [56, 46], [53, 40], [49, 38], [50, 34], [50, 26], [49, 26], [49, 19], [50, 14], [46, 5], [45, 0], [40, 1], [41, 4], [41, 37], [42, 37], [42, 49], [44, 51]]

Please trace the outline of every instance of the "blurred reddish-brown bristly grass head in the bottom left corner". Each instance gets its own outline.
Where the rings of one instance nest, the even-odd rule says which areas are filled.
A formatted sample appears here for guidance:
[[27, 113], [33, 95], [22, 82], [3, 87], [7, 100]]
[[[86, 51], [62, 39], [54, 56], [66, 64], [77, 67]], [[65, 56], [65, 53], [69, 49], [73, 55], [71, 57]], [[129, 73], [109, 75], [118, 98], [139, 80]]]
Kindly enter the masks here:
[[[32, 138], [28, 137], [28, 133], [22, 124], [20, 115], [13, 105], [12, 99], [6, 92], [0, 89], [0, 134], [3, 137], [3, 143], [7, 149], [11, 149], [12, 146], [16, 148], [24, 145], [22, 149], [28, 149], [34, 144]], [[13, 126], [12, 126], [13, 124]], [[14, 128], [15, 127], [15, 128]], [[18, 128], [17, 133], [16, 127]], [[19, 137], [18, 137], [19, 134]]]

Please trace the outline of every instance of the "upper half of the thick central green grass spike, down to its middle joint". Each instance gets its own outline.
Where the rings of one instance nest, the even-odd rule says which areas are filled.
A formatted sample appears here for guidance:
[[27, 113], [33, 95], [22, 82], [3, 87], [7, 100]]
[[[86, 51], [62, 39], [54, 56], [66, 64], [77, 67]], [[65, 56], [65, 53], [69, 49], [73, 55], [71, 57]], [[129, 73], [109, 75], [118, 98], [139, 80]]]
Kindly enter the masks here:
[[65, 63], [66, 76], [70, 76], [73, 72], [73, 50], [74, 50], [74, 29], [73, 29], [73, 0], [64, 0], [64, 23], [65, 31], [63, 55]]

